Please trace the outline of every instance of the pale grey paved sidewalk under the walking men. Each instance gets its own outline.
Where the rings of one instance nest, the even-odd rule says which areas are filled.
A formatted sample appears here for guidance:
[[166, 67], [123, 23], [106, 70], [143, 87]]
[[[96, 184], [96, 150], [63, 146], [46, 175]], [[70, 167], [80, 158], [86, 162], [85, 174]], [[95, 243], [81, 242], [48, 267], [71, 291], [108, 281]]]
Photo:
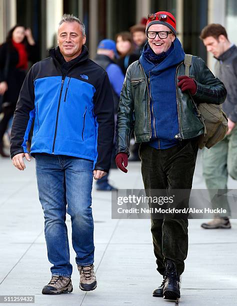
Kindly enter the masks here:
[[[34, 161], [24, 171], [0, 159], [0, 295], [34, 295], [35, 305], [152, 306], [173, 305], [152, 297], [161, 282], [156, 272], [149, 220], [111, 219], [110, 193], [93, 189], [95, 268], [98, 286], [91, 292], [78, 288], [73, 263], [73, 292], [42, 295], [50, 278], [43, 233], [43, 215], [37, 197]], [[128, 173], [111, 170], [119, 188], [142, 188], [139, 162]], [[237, 183], [230, 180], [229, 188]], [[194, 188], [204, 188], [198, 160]], [[189, 220], [189, 250], [182, 275], [180, 305], [237, 305], [237, 220], [231, 230], [204, 230], [201, 220]], [[67, 218], [68, 236], [71, 235]]]

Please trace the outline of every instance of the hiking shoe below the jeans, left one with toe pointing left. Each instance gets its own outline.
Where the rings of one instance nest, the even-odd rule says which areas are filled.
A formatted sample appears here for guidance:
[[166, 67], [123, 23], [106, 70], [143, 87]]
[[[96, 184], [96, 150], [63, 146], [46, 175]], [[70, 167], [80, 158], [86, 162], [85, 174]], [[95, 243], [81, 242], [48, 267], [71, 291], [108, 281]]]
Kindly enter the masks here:
[[72, 291], [71, 279], [61, 275], [52, 275], [49, 283], [43, 287], [43, 294], [61, 294]]

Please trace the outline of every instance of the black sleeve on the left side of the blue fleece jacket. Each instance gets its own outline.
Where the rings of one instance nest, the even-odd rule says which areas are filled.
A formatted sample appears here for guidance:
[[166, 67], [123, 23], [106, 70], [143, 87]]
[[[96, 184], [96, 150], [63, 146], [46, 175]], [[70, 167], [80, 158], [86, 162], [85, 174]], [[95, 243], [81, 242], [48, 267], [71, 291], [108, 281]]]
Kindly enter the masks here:
[[11, 158], [18, 153], [27, 152], [26, 141], [35, 114], [32, 69], [33, 67], [24, 79], [14, 111], [10, 134]]

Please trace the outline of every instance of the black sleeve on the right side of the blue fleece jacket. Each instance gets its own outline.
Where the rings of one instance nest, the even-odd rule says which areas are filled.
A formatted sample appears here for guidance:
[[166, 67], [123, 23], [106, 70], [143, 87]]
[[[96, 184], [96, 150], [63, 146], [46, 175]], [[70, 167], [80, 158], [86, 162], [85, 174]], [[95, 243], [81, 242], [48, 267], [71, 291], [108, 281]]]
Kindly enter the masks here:
[[98, 153], [94, 169], [108, 172], [114, 136], [114, 109], [111, 85], [105, 71], [95, 91], [94, 115], [97, 122]]

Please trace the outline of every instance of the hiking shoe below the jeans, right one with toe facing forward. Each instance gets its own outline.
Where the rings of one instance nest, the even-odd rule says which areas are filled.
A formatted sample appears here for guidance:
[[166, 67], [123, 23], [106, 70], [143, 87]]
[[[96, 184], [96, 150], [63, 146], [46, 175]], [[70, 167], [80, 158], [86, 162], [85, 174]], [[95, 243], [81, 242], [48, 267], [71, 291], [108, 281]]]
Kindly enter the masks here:
[[90, 265], [77, 265], [80, 273], [80, 284], [79, 287], [83, 291], [94, 290], [97, 286], [96, 277], [94, 273], [93, 264]]

